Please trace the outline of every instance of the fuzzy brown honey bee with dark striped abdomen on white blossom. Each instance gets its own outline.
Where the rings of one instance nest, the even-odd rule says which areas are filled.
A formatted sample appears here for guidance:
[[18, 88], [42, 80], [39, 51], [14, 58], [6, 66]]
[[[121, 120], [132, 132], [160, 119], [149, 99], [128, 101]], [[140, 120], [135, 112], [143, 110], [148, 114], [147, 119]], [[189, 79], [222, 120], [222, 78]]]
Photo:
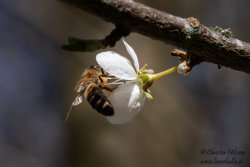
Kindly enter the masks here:
[[108, 79], [113, 77], [114, 76], [104, 71], [99, 65], [91, 65], [85, 69], [75, 86], [75, 91], [79, 94], [73, 101], [65, 122], [67, 122], [73, 106], [82, 102], [83, 96], [97, 112], [105, 116], [112, 116], [114, 114], [114, 108], [103, 93], [103, 89], [109, 92], [113, 91], [113, 87], [107, 84]]

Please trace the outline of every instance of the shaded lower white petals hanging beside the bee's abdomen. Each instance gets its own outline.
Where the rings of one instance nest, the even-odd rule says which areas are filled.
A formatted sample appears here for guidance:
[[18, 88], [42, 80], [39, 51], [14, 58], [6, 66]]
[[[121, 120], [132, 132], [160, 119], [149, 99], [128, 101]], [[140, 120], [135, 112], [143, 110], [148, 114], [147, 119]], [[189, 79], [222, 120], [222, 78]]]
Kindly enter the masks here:
[[112, 124], [124, 124], [132, 120], [140, 111], [145, 96], [135, 83], [126, 83], [115, 89], [113, 94], [108, 96], [114, 107], [114, 115], [108, 116], [107, 120]]

